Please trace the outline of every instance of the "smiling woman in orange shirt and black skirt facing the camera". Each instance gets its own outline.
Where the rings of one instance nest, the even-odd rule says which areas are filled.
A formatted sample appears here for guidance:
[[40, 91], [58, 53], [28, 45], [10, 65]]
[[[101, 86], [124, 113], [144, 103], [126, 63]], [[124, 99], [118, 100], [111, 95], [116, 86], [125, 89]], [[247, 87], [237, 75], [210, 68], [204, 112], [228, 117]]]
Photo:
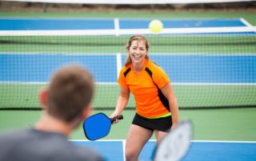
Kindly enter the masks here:
[[136, 114], [126, 138], [125, 152], [126, 161], [130, 161], [138, 160], [153, 133], [159, 143], [178, 124], [178, 102], [166, 73], [148, 57], [146, 37], [130, 37], [126, 49], [128, 57], [118, 77], [120, 95], [110, 118], [121, 114], [132, 92]]

